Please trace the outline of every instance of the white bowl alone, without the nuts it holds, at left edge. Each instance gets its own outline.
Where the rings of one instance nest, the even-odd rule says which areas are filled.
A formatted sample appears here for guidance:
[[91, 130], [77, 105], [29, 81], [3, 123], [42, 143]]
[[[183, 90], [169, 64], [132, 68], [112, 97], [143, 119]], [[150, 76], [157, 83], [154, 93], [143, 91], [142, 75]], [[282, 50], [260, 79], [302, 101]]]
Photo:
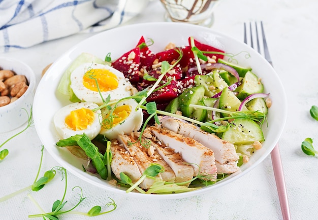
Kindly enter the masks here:
[[[28, 89], [16, 101], [0, 107], [0, 133], [8, 132], [23, 125], [30, 115], [36, 88], [34, 71], [24, 62], [14, 58], [0, 57], [0, 67], [24, 75], [29, 83]], [[26, 114], [27, 113], [27, 114]]]

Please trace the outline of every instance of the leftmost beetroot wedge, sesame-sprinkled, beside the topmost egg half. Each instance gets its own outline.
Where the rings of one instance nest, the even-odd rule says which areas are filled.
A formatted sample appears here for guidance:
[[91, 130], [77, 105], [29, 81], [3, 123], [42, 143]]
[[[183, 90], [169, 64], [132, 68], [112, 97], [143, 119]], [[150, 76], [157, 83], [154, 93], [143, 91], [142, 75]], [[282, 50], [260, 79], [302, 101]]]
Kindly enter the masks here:
[[132, 84], [139, 82], [140, 49], [136, 47], [115, 60], [112, 66], [121, 71]]

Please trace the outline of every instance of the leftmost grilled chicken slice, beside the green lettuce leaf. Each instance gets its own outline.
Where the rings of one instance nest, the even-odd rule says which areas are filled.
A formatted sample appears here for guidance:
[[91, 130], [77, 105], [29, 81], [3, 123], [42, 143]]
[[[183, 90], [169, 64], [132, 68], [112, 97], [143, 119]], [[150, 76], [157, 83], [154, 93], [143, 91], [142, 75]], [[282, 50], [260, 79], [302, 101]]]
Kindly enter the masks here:
[[139, 168], [134, 158], [119, 145], [117, 140], [112, 140], [110, 145], [110, 151], [112, 153], [111, 168], [115, 176], [120, 179], [120, 173], [128, 175], [132, 182], [136, 182], [141, 177]]

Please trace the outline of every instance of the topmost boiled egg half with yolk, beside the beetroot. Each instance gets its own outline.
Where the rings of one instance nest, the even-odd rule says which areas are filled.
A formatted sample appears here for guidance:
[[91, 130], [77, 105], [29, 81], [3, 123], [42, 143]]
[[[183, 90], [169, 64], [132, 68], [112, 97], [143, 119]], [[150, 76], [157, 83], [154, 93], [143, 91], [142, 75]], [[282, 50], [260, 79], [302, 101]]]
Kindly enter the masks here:
[[122, 72], [109, 65], [84, 63], [71, 73], [71, 88], [80, 100], [101, 105], [101, 95], [118, 100], [131, 96], [133, 86]]

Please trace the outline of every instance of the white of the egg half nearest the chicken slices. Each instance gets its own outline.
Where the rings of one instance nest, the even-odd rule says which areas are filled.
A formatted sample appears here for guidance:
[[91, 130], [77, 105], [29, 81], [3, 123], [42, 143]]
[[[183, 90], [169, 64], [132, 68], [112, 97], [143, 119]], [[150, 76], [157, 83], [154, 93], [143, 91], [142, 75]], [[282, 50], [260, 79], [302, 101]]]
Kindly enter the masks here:
[[106, 129], [104, 127], [101, 129], [100, 134], [105, 135], [105, 137], [110, 140], [117, 138], [118, 134], [130, 134], [133, 131], [138, 131], [142, 125], [142, 109], [139, 108], [135, 111], [135, 108], [138, 105], [137, 101], [135, 99], [127, 99], [119, 102], [117, 106], [124, 104], [131, 106], [132, 111], [130, 115], [123, 122], [113, 126], [111, 129]]

